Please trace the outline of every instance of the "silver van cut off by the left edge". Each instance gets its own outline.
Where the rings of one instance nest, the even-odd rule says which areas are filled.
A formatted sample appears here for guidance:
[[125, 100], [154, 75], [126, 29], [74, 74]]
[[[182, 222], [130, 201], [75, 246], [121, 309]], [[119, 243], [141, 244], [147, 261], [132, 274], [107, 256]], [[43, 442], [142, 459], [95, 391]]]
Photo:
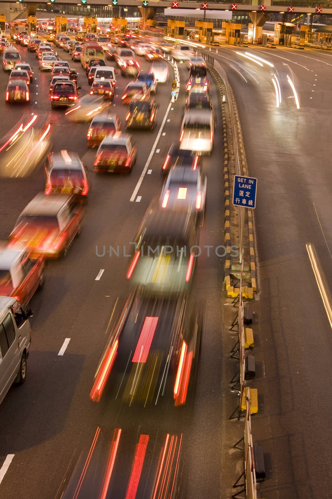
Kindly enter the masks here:
[[12, 383], [23, 384], [29, 356], [32, 310], [12, 297], [0, 296], [0, 404]]

